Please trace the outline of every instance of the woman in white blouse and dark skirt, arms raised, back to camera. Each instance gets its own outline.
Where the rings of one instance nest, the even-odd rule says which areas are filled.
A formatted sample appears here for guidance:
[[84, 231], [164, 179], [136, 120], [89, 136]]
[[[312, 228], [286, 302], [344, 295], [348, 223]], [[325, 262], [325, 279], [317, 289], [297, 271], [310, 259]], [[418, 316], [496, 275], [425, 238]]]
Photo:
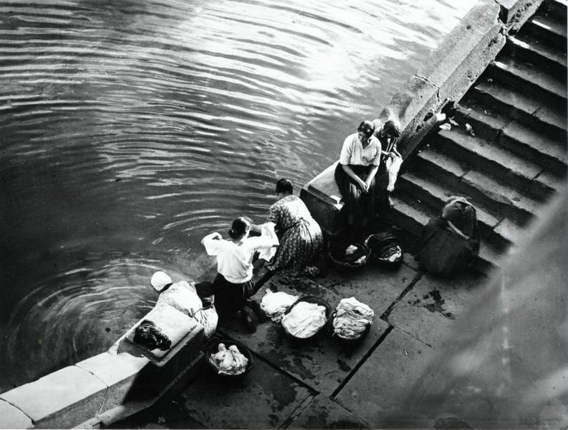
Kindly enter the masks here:
[[[217, 257], [217, 276], [212, 284], [197, 285], [200, 297], [214, 296], [215, 308], [221, 320], [240, 311], [246, 326], [256, 331], [246, 308], [247, 299], [256, 294], [253, 278], [255, 252], [273, 246], [268, 236], [249, 237], [251, 223], [244, 217], [236, 218], [229, 230], [230, 240], [224, 240], [218, 232], [205, 236], [201, 243], [209, 255]], [[205, 286], [204, 286], [205, 285]]]

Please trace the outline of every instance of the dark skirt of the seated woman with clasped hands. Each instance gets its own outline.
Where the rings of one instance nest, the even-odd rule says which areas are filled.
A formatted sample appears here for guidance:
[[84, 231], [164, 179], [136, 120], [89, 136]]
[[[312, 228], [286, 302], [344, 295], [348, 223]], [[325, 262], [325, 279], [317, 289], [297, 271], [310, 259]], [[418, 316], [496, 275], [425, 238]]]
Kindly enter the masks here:
[[[368, 173], [371, 171], [371, 168], [373, 168], [372, 165], [359, 166], [355, 164], [349, 164], [349, 167], [351, 167], [351, 170], [363, 181], [367, 180]], [[371, 181], [371, 187], [369, 187], [368, 193], [364, 193], [351, 176], [345, 173], [342, 164], [337, 163], [337, 168], [335, 168], [335, 182], [337, 182], [339, 191], [342, 193], [346, 210], [354, 216], [356, 222], [360, 221], [361, 218], [373, 216], [375, 213], [376, 200], [375, 178]]]

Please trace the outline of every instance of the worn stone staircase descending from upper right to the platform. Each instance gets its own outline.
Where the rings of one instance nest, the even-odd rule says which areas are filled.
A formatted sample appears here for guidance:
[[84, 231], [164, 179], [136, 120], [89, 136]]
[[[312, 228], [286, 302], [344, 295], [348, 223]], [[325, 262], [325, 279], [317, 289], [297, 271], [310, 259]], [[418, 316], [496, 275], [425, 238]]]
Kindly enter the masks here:
[[566, 53], [566, 0], [546, 0], [459, 101], [452, 128], [408, 158], [388, 221], [420, 236], [450, 195], [464, 195], [481, 227], [476, 267], [498, 264], [564, 186]]

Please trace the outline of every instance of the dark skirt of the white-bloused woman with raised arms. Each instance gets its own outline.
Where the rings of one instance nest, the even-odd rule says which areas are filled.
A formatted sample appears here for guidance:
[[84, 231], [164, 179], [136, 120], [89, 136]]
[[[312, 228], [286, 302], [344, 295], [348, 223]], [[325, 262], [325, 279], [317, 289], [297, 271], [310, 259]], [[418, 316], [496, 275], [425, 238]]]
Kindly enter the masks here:
[[213, 283], [202, 282], [195, 284], [197, 295], [200, 297], [214, 296], [214, 304], [219, 318], [230, 318], [240, 311], [249, 297], [256, 294], [254, 277], [243, 284], [233, 284], [222, 274], [217, 274]]

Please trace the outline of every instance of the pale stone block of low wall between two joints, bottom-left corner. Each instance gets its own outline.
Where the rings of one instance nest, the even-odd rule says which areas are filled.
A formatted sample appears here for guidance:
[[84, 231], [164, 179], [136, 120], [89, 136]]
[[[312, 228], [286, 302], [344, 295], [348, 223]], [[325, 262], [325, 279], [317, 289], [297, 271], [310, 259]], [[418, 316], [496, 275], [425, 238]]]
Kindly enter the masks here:
[[107, 386], [76, 366], [64, 367], [35, 382], [0, 394], [33, 420], [40, 429], [63, 429], [94, 416], [99, 411]]

